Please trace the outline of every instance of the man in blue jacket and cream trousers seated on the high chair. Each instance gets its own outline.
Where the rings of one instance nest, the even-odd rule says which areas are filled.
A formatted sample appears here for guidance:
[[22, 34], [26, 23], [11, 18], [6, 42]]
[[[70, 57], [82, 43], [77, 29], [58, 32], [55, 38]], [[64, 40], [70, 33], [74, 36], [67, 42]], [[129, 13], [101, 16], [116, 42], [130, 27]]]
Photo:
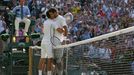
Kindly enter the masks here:
[[27, 35], [31, 21], [28, 19], [30, 17], [30, 10], [24, 5], [25, 0], [19, 0], [19, 5], [13, 9], [13, 13], [16, 14], [15, 19], [15, 30], [16, 36], [19, 36], [19, 23], [25, 23], [24, 35]]

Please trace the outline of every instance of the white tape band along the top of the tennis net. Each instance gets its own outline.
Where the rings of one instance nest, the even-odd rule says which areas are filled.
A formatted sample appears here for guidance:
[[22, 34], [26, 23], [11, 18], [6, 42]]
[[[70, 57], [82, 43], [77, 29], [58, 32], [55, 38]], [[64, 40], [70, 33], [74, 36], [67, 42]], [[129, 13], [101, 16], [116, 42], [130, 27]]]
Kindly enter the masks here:
[[[79, 41], [79, 42], [75, 42], [75, 43], [71, 43], [71, 44], [66, 44], [66, 45], [58, 45], [58, 46], [54, 47], [54, 49], [78, 46], [78, 45], [82, 45], [82, 44], [86, 44], [86, 43], [90, 43], [90, 42], [94, 42], [94, 41], [107, 39], [109, 37], [117, 36], [117, 35], [120, 35], [120, 34], [129, 33], [129, 32], [132, 32], [132, 31], [134, 31], [134, 26], [128, 27], [128, 28], [125, 28], [125, 29], [121, 29], [121, 30], [118, 30], [118, 31], [114, 31], [114, 32], [111, 32], [111, 33], [103, 34], [103, 35], [100, 35], [100, 36], [96, 36], [94, 38], [90, 38], [90, 39], [87, 39], [87, 40], [83, 40], [83, 41]], [[31, 46], [31, 48], [41, 49], [40, 46]]]

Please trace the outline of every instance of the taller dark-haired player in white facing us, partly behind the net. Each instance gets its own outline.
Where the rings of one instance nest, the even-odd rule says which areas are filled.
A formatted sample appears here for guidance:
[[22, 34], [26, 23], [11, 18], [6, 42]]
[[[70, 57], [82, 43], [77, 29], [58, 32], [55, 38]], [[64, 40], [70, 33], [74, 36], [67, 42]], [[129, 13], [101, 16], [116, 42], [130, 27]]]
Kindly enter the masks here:
[[[50, 8], [48, 13], [51, 18], [54, 18], [52, 20], [56, 22], [56, 25], [58, 25], [58, 28], [60, 29], [60, 32], [54, 32], [53, 45], [61, 45], [64, 37], [68, 34], [66, 20], [63, 16], [58, 14], [58, 10], [56, 8]], [[58, 64], [58, 75], [63, 75], [63, 49], [54, 50], [54, 58]]]

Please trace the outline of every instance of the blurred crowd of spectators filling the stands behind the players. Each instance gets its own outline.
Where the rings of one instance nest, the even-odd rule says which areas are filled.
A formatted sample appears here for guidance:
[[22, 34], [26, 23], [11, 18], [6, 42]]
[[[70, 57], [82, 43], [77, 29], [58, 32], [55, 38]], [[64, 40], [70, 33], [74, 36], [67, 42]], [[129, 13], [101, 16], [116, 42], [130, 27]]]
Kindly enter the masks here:
[[[18, 0], [0, 2], [1, 6], [5, 6], [1, 8], [3, 19], [0, 22], [7, 28], [13, 21], [9, 14], [19, 3]], [[127, 28], [134, 21], [133, 0], [26, 0], [25, 5], [31, 12], [32, 32], [41, 32], [45, 12], [52, 6], [58, 8], [61, 15], [72, 13], [74, 20], [68, 24], [71, 42]]]

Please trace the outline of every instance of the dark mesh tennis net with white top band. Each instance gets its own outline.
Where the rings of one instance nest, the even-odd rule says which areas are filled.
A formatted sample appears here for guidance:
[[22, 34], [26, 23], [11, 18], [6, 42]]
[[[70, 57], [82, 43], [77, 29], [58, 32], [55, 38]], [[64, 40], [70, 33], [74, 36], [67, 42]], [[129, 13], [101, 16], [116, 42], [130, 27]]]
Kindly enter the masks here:
[[55, 49], [65, 50], [67, 75], [133, 75], [134, 72], [134, 26]]

